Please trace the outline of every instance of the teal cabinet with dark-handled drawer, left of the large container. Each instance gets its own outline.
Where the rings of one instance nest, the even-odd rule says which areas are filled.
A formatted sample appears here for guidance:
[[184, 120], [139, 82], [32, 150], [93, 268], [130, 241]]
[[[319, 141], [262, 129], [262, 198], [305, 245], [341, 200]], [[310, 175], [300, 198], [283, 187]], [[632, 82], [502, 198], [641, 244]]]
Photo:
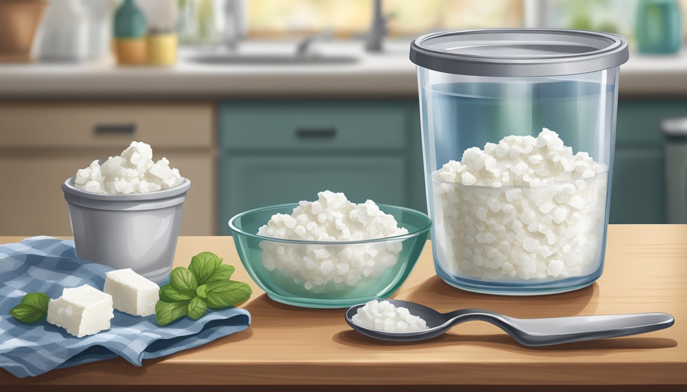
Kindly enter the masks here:
[[218, 233], [241, 211], [344, 192], [425, 211], [415, 101], [221, 102]]

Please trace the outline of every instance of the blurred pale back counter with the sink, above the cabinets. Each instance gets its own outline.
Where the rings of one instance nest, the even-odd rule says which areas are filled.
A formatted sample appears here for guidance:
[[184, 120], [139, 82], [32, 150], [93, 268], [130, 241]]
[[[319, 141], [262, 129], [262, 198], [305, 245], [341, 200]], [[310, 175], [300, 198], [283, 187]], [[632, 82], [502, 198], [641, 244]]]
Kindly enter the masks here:
[[[0, 65], [0, 98], [270, 98], [416, 97], [415, 66], [409, 40], [385, 44], [384, 54], [368, 54], [361, 42], [314, 43], [317, 53], [354, 56], [343, 65], [201, 65], [197, 51], [182, 50], [171, 68], [117, 67], [111, 61], [83, 64]], [[294, 43], [243, 43], [241, 54], [291, 54]], [[620, 95], [687, 96], [687, 53], [642, 56], [622, 65]]]

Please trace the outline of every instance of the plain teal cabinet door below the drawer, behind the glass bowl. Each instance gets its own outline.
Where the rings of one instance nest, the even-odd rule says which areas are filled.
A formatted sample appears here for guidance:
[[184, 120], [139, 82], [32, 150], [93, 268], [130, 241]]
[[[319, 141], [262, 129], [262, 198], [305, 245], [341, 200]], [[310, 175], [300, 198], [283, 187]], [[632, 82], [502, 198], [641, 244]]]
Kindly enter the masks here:
[[[219, 178], [221, 235], [231, 233], [232, 216], [267, 205], [316, 200], [317, 192], [343, 192], [355, 203], [407, 205], [407, 159], [388, 156], [302, 156], [229, 154], [222, 159]], [[265, 222], [267, 223], [267, 222]]]

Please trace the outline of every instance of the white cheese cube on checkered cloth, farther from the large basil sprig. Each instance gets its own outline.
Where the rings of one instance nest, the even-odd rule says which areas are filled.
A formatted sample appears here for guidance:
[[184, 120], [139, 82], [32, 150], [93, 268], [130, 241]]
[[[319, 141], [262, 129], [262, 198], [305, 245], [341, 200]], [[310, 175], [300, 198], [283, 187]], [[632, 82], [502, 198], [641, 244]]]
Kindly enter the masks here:
[[77, 338], [109, 330], [113, 317], [112, 296], [87, 284], [65, 288], [62, 297], [47, 305], [47, 322]]

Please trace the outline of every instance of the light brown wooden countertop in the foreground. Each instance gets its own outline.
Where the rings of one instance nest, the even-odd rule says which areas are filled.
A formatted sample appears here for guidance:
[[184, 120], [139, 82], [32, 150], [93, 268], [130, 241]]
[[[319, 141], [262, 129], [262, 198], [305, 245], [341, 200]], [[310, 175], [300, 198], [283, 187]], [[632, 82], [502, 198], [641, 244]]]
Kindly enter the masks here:
[[[0, 237], [1, 243], [18, 240]], [[185, 266], [201, 251], [221, 255], [236, 266], [236, 279], [251, 282], [227, 237], [179, 238], [174, 264]], [[602, 277], [582, 290], [543, 297], [497, 297], [448, 286], [434, 275], [428, 243], [394, 296], [441, 312], [675, 316], [668, 330], [640, 336], [532, 348], [517, 345], [493, 325], [471, 322], [425, 343], [383, 343], [350, 330], [343, 310], [293, 308], [251, 286], [254, 295], [243, 308], [253, 315], [253, 325], [238, 334], [146, 360], [143, 367], [117, 358], [35, 378], [0, 370], [0, 385], [687, 384], [687, 225], [611, 225]]]

